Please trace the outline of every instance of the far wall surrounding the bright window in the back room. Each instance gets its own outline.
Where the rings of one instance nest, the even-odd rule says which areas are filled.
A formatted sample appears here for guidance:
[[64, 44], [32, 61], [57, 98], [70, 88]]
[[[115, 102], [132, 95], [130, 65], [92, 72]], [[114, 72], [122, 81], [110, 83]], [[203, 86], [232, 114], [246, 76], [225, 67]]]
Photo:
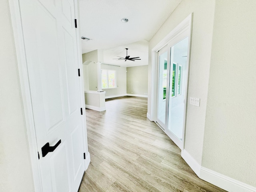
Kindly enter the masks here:
[[116, 70], [116, 88], [103, 89], [106, 91], [105, 96], [118, 96], [126, 94], [126, 67], [101, 64], [101, 69]]

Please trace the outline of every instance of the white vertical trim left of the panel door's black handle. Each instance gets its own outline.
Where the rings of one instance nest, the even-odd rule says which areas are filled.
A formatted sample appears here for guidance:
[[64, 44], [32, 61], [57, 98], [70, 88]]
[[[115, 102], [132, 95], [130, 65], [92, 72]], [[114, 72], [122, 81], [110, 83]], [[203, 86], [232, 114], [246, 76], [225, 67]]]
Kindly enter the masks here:
[[22, 102], [24, 106], [25, 124], [28, 134], [28, 146], [30, 150], [31, 168], [34, 180], [35, 192], [42, 192], [42, 179], [40, 163], [37, 158], [38, 146], [36, 142], [36, 130], [34, 127], [34, 116], [30, 97], [30, 86], [26, 67], [26, 54], [24, 48], [22, 24], [20, 17], [20, 7], [18, 0], [9, 0], [14, 42], [17, 56], [17, 63], [20, 76], [20, 87], [22, 92]]

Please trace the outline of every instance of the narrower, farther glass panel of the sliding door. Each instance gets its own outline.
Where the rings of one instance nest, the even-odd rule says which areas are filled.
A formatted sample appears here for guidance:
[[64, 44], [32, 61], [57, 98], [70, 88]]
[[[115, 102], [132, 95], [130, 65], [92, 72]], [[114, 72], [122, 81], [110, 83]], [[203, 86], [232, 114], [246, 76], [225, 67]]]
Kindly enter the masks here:
[[167, 51], [159, 53], [158, 68], [158, 124], [166, 127]]

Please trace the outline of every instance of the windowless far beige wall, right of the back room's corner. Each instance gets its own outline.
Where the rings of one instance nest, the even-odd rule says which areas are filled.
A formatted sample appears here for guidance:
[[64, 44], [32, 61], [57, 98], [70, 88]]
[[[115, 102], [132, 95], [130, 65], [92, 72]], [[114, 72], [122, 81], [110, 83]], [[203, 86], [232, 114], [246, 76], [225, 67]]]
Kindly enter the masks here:
[[148, 65], [127, 67], [127, 93], [147, 95], [148, 93]]

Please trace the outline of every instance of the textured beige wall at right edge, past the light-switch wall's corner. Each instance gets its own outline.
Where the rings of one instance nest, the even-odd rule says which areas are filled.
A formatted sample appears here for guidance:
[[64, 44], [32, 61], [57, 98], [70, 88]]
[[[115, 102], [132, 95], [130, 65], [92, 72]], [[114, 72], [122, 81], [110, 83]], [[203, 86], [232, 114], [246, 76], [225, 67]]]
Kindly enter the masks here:
[[256, 1], [216, 0], [202, 166], [256, 187]]

